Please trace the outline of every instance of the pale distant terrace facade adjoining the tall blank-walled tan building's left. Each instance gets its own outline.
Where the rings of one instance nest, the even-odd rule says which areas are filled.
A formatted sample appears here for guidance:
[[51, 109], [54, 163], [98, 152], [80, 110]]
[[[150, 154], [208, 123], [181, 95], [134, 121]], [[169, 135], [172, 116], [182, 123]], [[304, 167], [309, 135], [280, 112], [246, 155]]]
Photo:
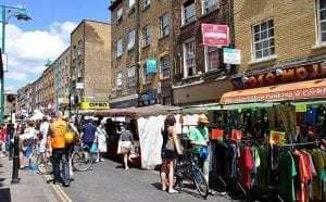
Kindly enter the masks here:
[[65, 111], [70, 106], [71, 48], [68, 47], [52, 64], [54, 68], [55, 105]]

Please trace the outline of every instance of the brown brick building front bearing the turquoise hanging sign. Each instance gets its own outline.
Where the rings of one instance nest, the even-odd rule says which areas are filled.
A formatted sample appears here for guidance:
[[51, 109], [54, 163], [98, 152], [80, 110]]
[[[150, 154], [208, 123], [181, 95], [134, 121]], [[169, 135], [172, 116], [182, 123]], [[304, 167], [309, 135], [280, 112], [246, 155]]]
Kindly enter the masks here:
[[172, 104], [172, 1], [112, 1], [114, 108]]

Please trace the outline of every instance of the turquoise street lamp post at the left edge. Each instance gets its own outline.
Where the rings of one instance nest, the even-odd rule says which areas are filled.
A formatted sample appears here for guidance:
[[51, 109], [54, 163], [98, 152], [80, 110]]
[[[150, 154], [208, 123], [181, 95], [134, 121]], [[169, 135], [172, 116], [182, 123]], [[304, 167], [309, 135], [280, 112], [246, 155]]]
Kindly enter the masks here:
[[[14, 16], [18, 21], [29, 21], [32, 20], [27, 15], [27, 10], [25, 8], [15, 8], [15, 7], [8, 7], [8, 5], [0, 5], [2, 10], [1, 14], [1, 23], [2, 23], [2, 46], [1, 46], [1, 52], [5, 52], [5, 25], [8, 24], [10, 17]], [[7, 16], [7, 13], [9, 14]], [[1, 55], [2, 56], [2, 55]], [[2, 70], [3, 72], [4, 70]], [[1, 76], [1, 105], [0, 105], [0, 122], [3, 123], [3, 114], [4, 114], [4, 72]]]

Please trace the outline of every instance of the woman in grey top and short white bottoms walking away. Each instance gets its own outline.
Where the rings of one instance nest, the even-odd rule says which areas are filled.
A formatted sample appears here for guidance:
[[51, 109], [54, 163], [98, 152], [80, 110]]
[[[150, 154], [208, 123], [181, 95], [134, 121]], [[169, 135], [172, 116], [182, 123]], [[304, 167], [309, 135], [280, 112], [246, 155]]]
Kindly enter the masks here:
[[127, 171], [127, 169], [129, 169], [128, 160], [130, 162], [133, 162], [129, 154], [130, 154], [130, 151], [134, 147], [134, 135], [129, 130], [128, 125], [126, 125], [126, 126], [122, 125], [121, 126], [120, 140], [121, 140], [121, 153], [123, 154], [125, 169]]

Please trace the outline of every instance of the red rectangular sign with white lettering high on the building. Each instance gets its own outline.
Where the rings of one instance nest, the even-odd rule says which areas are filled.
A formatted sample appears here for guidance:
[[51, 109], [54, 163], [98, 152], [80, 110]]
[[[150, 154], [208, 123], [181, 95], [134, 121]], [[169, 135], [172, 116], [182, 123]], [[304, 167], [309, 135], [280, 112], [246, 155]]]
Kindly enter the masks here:
[[229, 28], [227, 25], [201, 24], [201, 33], [203, 46], [229, 46]]

